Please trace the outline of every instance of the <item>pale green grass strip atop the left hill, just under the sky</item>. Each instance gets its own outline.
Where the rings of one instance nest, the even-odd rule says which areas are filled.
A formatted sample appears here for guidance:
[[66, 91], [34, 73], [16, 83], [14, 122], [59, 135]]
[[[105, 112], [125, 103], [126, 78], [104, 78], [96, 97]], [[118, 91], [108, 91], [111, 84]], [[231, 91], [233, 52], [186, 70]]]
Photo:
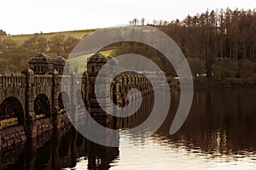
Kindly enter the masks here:
[[13, 40], [15, 40], [15, 42], [17, 42], [17, 45], [21, 45], [23, 42], [25, 42], [26, 40], [28, 40], [29, 38], [38, 35], [38, 36], [42, 36], [45, 37], [47, 40], [49, 40], [51, 37], [58, 35], [58, 34], [62, 34], [65, 35], [66, 37], [76, 37], [79, 39], [82, 39], [84, 36], [87, 36], [88, 34], [90, 34], [93, 31], [96, 31], [97, 29], [88, 29], [88, 30], [78, 30], [78, 31], [60, 31], [60, 32], [49, 32], [49, 33], [36, 33], [36, 34], [21, 34], [21, 35], [12, 35], [12, 36], [0, 36], [0, 39], [4, 39], [4, 38], [12, 38]]

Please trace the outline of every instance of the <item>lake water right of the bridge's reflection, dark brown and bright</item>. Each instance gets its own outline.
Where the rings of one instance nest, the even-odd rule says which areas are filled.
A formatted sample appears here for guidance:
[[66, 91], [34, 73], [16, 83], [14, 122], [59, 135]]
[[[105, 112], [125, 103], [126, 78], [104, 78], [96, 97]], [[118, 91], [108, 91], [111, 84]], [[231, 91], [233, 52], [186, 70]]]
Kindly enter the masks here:
[[169, 135], [179, 99], [172, 93], [171, 111], [157, 133], [148, 139], [120, 133], [120, 157], [137, 153], [139, 161], [129, 161], [140, 169], [256, 169], [254, 94], [255, 88], [198, 89], [183, 127]]

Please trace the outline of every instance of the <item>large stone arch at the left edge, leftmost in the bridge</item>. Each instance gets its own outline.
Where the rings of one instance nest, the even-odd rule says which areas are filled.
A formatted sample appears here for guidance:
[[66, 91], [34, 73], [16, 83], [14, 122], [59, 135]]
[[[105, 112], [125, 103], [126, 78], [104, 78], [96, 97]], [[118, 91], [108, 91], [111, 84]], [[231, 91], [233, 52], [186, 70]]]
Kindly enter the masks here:
[[24, 109], [19, 99], [9, 97], [0, 105], [0, 121], [2, 127], [24, 125]]

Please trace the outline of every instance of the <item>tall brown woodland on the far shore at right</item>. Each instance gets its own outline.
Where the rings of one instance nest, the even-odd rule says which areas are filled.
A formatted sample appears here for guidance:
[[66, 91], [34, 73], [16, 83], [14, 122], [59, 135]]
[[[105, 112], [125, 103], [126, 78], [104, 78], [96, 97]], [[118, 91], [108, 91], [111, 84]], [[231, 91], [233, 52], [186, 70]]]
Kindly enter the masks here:
[[[130, 24], [143, 25], [137, 19]], [[148, 26], [172, 37], [188, 59], [193, 74], [214, 73], [222, 80], [254, 77], [256, 82], [256, 9], [207, 10], [183, 20], [153, 20]], [[119, 51], [124, 48], [127, 44]]]

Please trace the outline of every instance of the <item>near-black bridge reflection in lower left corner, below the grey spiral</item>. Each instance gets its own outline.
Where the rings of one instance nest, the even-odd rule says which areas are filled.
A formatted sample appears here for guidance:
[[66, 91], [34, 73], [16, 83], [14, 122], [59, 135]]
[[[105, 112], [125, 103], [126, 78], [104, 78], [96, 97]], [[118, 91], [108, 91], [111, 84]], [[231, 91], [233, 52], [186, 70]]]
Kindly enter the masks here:
[[87, 160], [87, 164], [80, 167], [82, 169], [108, 169], [110, 162], [119, 156], [119, 148], [92, 143], [84, 139], [73, 127], [62, 133], [51, 132], [48, 137], [42, 136], [37, 141], [29, 142], [16, 153], [2, 152], [1, 169], [76, 167], [81, 157]]

